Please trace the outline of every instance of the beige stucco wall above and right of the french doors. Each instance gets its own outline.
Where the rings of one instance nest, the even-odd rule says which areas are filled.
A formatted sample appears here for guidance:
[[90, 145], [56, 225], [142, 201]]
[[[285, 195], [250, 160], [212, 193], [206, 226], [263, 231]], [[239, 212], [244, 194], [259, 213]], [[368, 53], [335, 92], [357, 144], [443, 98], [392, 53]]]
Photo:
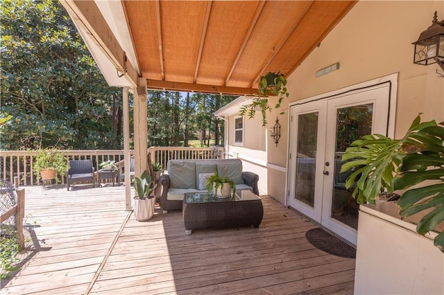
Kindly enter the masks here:
[[[423, 120], [444, 120], [444, 79], [438, 65], [413, 64], [412, 42], [444, 19], [444, 1], [359, 1], [288, 78], [290, 100], [399, 72], [395, 137], [402, 136], [419, 112]], [[320, 78], [316, 71], [340, 63]], [[439, 69], [441, 71], [441, 69]]]

